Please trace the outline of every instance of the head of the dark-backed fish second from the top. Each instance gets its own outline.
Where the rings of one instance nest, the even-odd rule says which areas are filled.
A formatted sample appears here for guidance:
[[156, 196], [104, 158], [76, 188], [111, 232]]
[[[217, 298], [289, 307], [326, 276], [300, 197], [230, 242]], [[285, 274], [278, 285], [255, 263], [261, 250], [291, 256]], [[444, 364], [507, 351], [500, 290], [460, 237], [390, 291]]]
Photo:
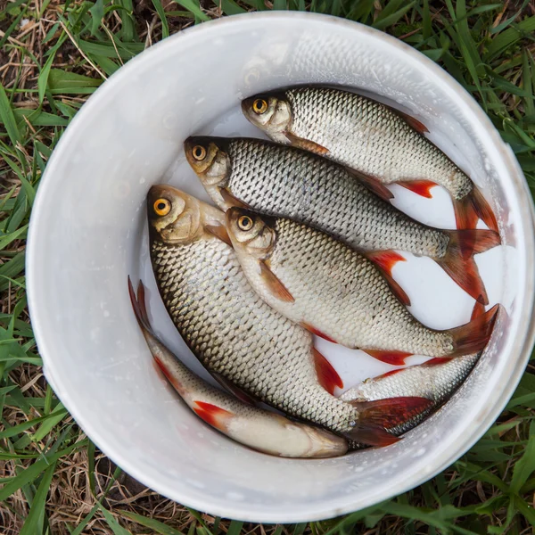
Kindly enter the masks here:
[[225, 137], [191, 136], [184, 142], [186, 160], [220, 208], [225, 208], [220, 188], [226, 187], [231, 170], [229, 141]]

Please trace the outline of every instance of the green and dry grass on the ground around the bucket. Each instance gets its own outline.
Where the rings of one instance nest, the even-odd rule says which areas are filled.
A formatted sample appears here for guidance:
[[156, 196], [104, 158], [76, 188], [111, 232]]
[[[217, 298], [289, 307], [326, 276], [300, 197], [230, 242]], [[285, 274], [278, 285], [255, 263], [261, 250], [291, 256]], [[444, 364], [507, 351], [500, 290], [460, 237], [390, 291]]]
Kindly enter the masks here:
[[24, 249], [46, 161], [95, 88], [193, 24], [266, 9], [326, 12], [413, 45], [457, 78], [535, 187], [535, 4], [465, 0], [0, 0], [0, 533], [334, 535], [533, 533], [535, 376], [447, 471], [317, 523], [214, 518], [144, 488], [103, 456], [45, 382], [26, 309]]

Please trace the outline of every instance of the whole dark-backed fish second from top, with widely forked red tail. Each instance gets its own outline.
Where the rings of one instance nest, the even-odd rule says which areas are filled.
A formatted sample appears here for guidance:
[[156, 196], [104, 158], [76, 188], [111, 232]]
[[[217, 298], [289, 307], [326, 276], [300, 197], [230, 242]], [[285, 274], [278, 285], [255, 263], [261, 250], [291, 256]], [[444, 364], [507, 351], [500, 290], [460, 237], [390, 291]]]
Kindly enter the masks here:
[[391, 273], [405, 260], [397, 251], [434, 259], [473, 299], [489, 303], [473, 254], [497, 246], [497, 232], [426, 226], [370, 191], [341, 165], [298, 148], [207, 136], [189, 137], [184, 147], [187, 161], [221, 210], [248, 207], [333, 235], [366, 252], [406, 305], [410, 300]]

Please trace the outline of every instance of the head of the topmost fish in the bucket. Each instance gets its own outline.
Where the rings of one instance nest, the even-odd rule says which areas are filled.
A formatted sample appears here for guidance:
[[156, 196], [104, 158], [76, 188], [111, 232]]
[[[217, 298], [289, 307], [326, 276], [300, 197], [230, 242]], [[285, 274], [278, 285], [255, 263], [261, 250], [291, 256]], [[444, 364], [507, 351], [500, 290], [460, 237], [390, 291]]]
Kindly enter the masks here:
[[283, 94], [254, 95], [242, 101], [243, 115], [271, 139], [289, 144], [285, 132], [292, 123], [292, 107]]

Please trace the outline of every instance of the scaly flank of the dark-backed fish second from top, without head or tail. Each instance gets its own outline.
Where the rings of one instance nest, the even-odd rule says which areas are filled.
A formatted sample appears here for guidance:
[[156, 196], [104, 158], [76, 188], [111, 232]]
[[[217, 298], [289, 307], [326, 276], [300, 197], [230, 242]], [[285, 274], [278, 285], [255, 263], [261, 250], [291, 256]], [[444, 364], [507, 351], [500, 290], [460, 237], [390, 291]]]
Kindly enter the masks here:
[[449, 235], [416, 222], [346, 169], [315, 154], [261, 140], [228, 144], [226, 187], [253, 210], [296, 218], [362, 251], [400, 250], [440, 259]]

